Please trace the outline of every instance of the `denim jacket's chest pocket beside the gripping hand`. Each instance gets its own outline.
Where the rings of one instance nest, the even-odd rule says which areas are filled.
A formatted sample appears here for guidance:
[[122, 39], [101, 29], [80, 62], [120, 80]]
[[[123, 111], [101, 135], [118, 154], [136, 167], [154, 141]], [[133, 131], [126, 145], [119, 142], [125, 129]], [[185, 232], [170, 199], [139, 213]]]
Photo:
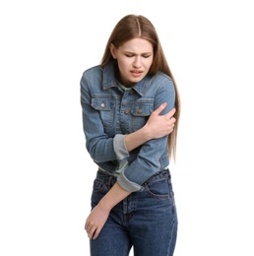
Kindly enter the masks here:
[[131, 109], [132, 113], [132, 125], [134, 131], [143, 127], [147, 121], [149, 116], [154, 111], [154, 99], [143, 99], [137, 100]]

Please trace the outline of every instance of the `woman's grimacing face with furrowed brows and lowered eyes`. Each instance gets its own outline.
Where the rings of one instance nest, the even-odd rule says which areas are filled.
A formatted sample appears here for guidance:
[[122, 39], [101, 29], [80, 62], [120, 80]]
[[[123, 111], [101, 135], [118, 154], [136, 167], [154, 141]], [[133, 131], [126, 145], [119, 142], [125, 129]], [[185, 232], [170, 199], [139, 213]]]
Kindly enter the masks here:
[[125, 87], [132, 87], [140, 82], [149, 72], [153, 63], [154, 49], [150, 41], [134, 38], [115, 48], [110, 45], [114, 59], [117, 59], [120, 82]]

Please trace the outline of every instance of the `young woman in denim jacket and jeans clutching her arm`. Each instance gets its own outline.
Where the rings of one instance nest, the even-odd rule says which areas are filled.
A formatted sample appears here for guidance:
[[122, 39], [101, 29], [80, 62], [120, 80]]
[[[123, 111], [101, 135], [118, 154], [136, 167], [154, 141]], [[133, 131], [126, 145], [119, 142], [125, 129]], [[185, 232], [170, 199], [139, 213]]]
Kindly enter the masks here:
[[[144, 16], [115, 26], [101, 64], [81, 79], [86, 147], [98, 166], [85, 229], [92, 256], [173, 255], [179, 96], [159, 36]], [[176, 109], [176, 111], [175, 111]], [[174, 115], [174, 117], [173, 117]]]

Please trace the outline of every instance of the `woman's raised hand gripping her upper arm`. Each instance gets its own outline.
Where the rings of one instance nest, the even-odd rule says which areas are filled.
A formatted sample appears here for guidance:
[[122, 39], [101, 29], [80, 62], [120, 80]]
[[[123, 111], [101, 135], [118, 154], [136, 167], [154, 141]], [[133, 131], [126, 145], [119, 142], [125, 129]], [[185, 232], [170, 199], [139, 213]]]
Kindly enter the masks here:
[[159, 115], [166, 107], [166, 102], [162, 103], [149, 117], [145, 126], [153, 139], [159, 139], [173, 131], [176, 119], [173, 117], [176, 109], [172, 108], [168, 113]]

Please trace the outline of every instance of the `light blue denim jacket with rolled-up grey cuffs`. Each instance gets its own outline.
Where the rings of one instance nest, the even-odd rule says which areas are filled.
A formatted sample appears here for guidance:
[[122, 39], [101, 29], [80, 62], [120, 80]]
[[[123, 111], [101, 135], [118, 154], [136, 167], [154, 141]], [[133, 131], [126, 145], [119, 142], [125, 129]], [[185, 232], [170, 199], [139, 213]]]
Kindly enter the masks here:
[[147, 75], [132, 88], [122, 91], [114, 75], [114, 64], [95, 66], [81, 78], [81, 105], [86, 148], [99, 168], [114, 174], [122, 160], [127, 167], [117, 176], [127, 191], [142, 184], [169, 164], [167, 136], [152, 139], [128, 152], [125, 135], [143, 127], [151, 113], [167, 102], [165, 114], [175, 102], [172, 80], [165, 74]]

